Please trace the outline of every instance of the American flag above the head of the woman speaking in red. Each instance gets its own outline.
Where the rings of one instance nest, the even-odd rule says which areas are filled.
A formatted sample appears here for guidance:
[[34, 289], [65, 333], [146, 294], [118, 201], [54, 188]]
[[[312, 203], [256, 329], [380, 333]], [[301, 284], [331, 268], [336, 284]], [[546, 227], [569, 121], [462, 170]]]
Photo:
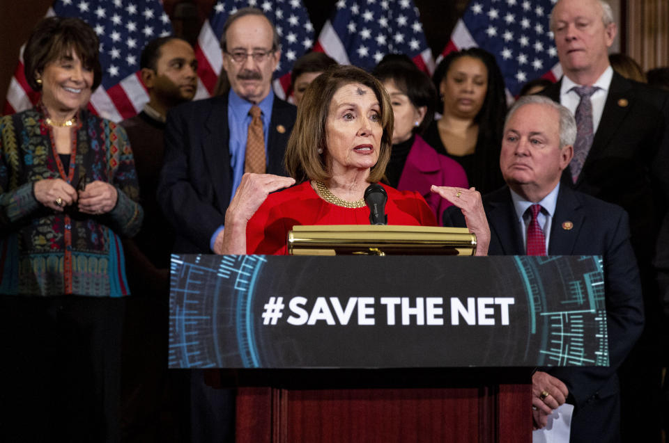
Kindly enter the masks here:
[[317, 51], [343, 65], [371, 70], [386, 54], [406, 54], [434, 70], [418, 9], [411, 0], [339, 0], [318, 36]]

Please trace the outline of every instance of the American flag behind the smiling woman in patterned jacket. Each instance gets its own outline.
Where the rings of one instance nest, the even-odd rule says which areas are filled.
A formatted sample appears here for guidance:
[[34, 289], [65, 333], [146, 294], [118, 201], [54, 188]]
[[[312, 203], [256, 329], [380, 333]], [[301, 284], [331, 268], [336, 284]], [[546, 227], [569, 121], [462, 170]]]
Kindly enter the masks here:
[[[91, 96], [94, 113], [120, 122], [141, 111], [148, 94], [139, 77], [139, 56], [147, 42], [172, 33], [159, 0], [57, 0], [47, 17], [79, 17], [100, 39], [102, 84]], [[36, 103], [23, 72], [23, 49], [10, 81], [4, 113], [23, 111]]]

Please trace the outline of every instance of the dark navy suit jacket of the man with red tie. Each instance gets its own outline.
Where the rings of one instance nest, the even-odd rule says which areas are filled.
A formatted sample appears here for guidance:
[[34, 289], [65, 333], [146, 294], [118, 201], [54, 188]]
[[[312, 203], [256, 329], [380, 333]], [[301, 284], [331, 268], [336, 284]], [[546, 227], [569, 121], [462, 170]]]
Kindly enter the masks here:
[[[523, 237], [509, 188], [486, 195], [484, 209], [491, 231], [489, 254], [524, 255]], [[573, 228], [562, 227], [562, 223], [567, 221], [573, 224]], [[464, 226], [459, 209], [449, 207], [446, 210], [444, 225]], [[619, 387], [616, 370], [643, 330], [643, 299], [629, 241], [627, 214], [613, 204], [560, 186], [551, 223], [548, 255], [603, 257], [611, 366], [552, 368], [547, 371], [567, 385], [572, 398], [570, 402], [576, 405], [572, 441], [616, 441], [613, 435], [619, 428], [617, 420], [620, 417], [610, 417], [610, 408], [606, 403], [612, 396], [617, 402]]]

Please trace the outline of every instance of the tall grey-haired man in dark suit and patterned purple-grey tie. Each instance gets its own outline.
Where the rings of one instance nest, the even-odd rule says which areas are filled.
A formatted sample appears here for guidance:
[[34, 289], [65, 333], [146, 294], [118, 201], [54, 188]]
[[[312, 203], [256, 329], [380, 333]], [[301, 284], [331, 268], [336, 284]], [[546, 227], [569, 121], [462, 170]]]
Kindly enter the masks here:
[[621, 371], [624, 435], [658, 442], [659, 331], [666, 318], [652, 259], [669, 198], [669, 94], [613, 72], [608, 48], [617, 30], [606, 2], [558, 1], [551, 31], [564, 76], [541, 94], [567, 106], [578, 123], [575, 160], [562, 184], [627, 211], [643, 284], [646, 328]]

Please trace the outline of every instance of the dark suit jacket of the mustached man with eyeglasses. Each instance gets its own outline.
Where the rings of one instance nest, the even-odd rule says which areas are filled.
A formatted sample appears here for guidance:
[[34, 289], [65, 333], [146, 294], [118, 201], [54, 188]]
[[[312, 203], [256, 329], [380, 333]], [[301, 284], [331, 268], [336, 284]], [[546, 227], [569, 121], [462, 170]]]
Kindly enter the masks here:
[[[284, 153], [297, 108], [275, 97], [268, 140], [270, 174], [286, 175]], [[174, 252], [211, 253], [233, 193], [228, 97], [177, 106], [167, 114], [165, 159], [157, 198], [176, 230]]]

